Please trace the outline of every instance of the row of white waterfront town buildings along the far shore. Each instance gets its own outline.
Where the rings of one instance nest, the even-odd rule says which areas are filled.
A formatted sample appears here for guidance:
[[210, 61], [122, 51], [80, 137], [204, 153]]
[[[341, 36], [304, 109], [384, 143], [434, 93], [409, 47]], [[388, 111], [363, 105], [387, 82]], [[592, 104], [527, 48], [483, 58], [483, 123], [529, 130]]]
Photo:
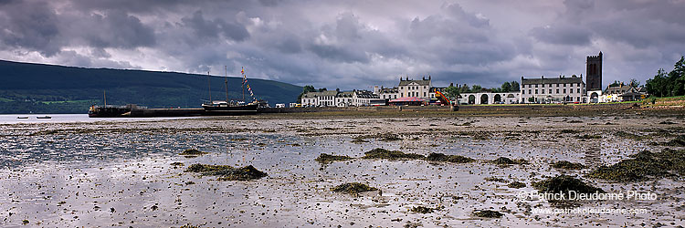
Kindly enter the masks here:
[[[606, 90], [587, 91], [583, 76], [553, 78], [521, 78], [521, 88], [511, 92], [462, 93], [453, 102], [459, 104], [530, 104], [530, 103], [590, 103], [617, 102], [645, 98], [644, 88], [633, 88], [621, 84]], [[431, 78], [410, 80], [400, 78], [395, 88], [374, 87], [374, 91], [322, 91], [306, 93], [301, 98], [302, 106], [352, 107], [386, 105], [397, 98], [420, 98], [426, 104], [434, 103], [436, 91], [446, 88], [433, 87]]]

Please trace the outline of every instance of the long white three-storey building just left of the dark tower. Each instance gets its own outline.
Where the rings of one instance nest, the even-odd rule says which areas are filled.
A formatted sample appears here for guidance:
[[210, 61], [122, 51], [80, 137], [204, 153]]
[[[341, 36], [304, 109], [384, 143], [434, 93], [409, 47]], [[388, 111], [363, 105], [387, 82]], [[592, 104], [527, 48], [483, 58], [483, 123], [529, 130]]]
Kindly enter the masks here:
[[523, 78], [522, 103], [587, 102], [583, 77]]

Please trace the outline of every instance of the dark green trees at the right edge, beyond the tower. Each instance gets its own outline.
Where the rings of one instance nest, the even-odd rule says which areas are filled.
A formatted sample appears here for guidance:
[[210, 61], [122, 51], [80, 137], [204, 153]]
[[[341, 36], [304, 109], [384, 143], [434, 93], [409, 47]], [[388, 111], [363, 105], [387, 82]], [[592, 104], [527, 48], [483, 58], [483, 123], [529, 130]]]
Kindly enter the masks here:
[[657, 75], [647, 80], [645, 88], [649, 95], [659, 98], [685, 95], [685, 57], [680, 57], [668, 73], [659, 68]]

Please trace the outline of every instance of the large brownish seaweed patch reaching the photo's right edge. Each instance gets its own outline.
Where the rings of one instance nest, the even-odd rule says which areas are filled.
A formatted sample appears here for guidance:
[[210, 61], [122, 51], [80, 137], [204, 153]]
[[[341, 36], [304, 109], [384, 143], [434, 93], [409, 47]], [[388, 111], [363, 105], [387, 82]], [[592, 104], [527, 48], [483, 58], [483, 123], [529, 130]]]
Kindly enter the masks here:
[[587, 176], [608, 181], [644, 181], [685, 174], [685, 150], [664, 149], [659, 153], [643, 150], [631, 157], [610, 166], [601, 166]]

